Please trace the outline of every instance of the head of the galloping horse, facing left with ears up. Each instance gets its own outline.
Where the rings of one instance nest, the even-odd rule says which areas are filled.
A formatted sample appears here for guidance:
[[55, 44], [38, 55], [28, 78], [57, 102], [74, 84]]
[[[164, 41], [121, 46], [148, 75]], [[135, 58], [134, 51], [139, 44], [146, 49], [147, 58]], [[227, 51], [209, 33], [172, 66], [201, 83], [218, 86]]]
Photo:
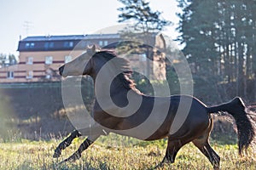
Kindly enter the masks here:
[[81, 54], [76, 59], [73, 59], [69, 63], [62, 65], [59, 68], [60, 75], [62, 77], [89, 75], [92, 68], [90, 58], [94, 54], [96, 54], [95, 45], [93, 45], [92, 48], [88, 48], [86, 53]]

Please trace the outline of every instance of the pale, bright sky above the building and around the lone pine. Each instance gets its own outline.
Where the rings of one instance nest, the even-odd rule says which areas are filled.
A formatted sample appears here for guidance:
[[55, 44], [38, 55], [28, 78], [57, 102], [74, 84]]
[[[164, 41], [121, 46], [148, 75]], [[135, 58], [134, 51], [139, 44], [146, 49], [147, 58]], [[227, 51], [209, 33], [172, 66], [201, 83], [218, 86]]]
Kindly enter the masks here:
[[[166, 35], [176, 38], [176, 0], [148, 0], [155, 11], [176, 23]], [[0, 0], [0, 53], [15, 54], [27, 36], [92, 34], [119, 23], [117, 0]], [[27, 24], [28, 23], [28, 24]]]

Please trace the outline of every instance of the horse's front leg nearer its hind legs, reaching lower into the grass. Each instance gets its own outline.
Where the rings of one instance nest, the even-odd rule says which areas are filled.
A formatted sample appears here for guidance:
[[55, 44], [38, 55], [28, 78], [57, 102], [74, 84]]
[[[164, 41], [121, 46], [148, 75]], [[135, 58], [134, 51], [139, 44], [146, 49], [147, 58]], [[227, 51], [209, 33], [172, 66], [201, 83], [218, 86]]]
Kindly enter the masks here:
[[81, 157], [81, 154], [84, 150], [86, 150], [90, 144], [93, 144], [96, 139], [100, 137], [99, 135], [89, 136], [87, 139], [84, 140], [84, 142], [79, 146], [79, 150], [75, 151], [72, 156], [69, 156], [64, 161], [61, 161], [60, 163], [66, 162], [66, 161], [76, 161]]

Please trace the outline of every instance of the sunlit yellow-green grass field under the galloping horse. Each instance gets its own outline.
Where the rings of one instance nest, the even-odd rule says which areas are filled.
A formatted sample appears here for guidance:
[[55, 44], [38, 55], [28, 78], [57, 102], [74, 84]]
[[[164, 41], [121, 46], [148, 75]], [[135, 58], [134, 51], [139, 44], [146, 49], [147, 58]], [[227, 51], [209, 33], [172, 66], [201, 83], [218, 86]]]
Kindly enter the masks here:
[[[2, 142], [0, 169], [150, 169], [162, 160], [166, 148], [165, 140], [141, 142], [111, 134], [85, 150], [79, 161], [58, 164], [77, 150], [82, 141], [75, 139], [59, 160], [53, 159], [52, 155], [60, 140]], [[236, 144], [212, 142], [212, 148], [221, 157], [221, 169], [256, 169], [253, 150], [241, 157]], [[212, 169], [212, 165], [193, 144], [187, 144], [178, 152], [174, 164], [166, 164], [160, 169]]]

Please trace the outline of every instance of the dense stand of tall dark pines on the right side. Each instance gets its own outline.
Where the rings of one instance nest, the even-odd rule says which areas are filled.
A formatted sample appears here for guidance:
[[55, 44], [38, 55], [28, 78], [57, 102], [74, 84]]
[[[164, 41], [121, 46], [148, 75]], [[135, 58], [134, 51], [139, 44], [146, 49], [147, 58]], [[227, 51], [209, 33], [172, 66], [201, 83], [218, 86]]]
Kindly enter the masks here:
[[[177, 2], [183, 9], [179, 14], [178, 40], [185, 45], [183, 53], [198, 78], [195, 89], [203, 89], [198, 94], [204, 96], [210, 88], [223, 87], [221, 94], [247, 97], [252, 91], [247, 89], [248, 82], [255, 79], [256, 70], [256, 1]], [[253, 94], [255, 99], [256, 90]]]

